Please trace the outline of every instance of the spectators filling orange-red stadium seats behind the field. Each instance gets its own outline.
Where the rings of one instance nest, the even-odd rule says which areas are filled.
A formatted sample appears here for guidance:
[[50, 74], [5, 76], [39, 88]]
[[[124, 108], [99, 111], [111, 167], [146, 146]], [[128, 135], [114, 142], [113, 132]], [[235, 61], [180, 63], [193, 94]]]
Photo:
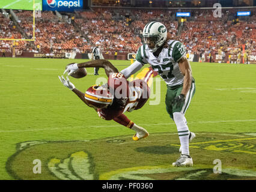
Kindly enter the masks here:
[[[186, 10], [183, 10], [186, 11]], [[188, 10], [187, 10], [188, 11]], [[180, 40], [192, 53], [229, 51], [246, 48], [255, 50], [255, 11], [245, 19], [235, 17], [237, 10], [224, 10], [222, 17], [213, 17], [212, 10], [190, 10], [191, 17], [178, 25], [177, 10], [138, 10], [94, 8], [70, 14], [69, 20], [59, 19], [52, 11], [42, 11], [35, 19], [35, 41], [17, 41], [16, 49], [26, 52], [88, 53], [100, 43], [105, 53], [136, 52], [141, 46], [145, 23], [156, 20], [165, 24], [172, 38]], [[20, 28], [33, 38], [32, 11], [14, 10]], [[1, 38], [25, 38], [11, 19], [0, 13]], [[179, 28], [180, 30], [178, 30]], [[10, 41], [1, 41], [9, 46]]]

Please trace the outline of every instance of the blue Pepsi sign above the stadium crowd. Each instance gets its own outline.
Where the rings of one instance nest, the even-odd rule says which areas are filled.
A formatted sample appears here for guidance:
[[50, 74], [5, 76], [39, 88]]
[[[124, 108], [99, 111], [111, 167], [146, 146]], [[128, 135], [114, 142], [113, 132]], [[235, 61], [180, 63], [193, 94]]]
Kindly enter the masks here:
[[43, 0], [44, 11], [65, 11], [73, 12], [82, 10], [83, 0]]

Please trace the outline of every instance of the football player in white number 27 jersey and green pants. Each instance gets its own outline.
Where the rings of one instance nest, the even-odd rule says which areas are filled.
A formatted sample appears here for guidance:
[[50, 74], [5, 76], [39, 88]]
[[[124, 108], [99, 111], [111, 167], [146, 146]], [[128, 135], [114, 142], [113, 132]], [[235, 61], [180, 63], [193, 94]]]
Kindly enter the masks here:
[[184, 116], [195, 94], [195, 80], [180, 41], [167, 38], [167, 29], [160, 22], [150, 22], [143, 29], [143, 45], [136, 53], [136, 61], [121, 71], [126, 78], [150, 64], [167, 84], [166, 110], [174, 120], [180, 139], [181, 155], [172, 166], [193, 166], [189, 142], [195, 134], [189, 131]]

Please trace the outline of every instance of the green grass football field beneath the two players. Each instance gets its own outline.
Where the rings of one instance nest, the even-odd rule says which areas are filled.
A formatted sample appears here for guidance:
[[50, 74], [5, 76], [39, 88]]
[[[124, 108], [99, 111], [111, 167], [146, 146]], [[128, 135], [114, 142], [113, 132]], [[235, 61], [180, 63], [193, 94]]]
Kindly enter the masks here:
[[[165, 110], [165, 82], [160, 104], [126, 113], [150, 133], [133, 142], [133, 130], [100, 119], [59, 82], [67, 64], [84, 61], [0, 58], [0, 179], [256, 179], [256, 65], [191, 63], [197, 90], [186, 119], [197, 134], [194, 168], [174, 169], [179, 141]], [[111, 62], [120, 71], [130, 64]], [[70, 77], [81, 91], [106, 78], [102, 69], [100, 76], [87, 71]], [[35, 159], [41, 174], [32, 171]], [[220, 176], [212, 173], [215, 159]], [[191, 176], [198, 169], [201, 176]]]

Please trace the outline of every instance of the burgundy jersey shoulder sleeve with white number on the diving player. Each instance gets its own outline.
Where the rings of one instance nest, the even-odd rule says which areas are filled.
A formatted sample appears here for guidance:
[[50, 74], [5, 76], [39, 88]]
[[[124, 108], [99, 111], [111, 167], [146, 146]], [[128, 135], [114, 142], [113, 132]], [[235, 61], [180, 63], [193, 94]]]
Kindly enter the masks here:
[[115, 98], [129, 97], [129, 82], [122, 73], [111, 73], [108, 78], [109, 92]]

